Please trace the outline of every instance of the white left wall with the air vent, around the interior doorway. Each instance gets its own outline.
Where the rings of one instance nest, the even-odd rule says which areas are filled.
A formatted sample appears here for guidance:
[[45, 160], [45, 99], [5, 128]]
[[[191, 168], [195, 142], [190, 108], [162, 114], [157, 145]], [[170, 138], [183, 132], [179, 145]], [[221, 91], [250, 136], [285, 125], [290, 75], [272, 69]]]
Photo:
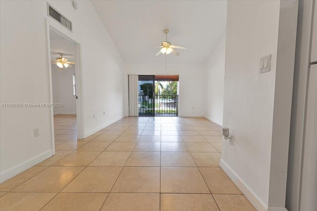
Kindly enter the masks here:
[[[0, 103], [50, 103], [48, 20], [81, 44], [87, 136], [123, 116], [123, 61], [90, 1], [77, 1], [77, 10], [71, 0], [49, 3], [72, 21], [72, 33], [47, 16], [46, 1], [0, 1]], [[0, 129], [1, 182], [53, 154], [50, 108], [1, 107]]]

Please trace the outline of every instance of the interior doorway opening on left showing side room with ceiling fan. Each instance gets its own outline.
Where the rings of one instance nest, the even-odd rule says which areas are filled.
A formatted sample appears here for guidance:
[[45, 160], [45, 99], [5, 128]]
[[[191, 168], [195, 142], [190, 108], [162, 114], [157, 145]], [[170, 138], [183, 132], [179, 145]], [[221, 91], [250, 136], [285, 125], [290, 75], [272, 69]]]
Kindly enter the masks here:
[[82, 139], [79, 44], [49, 27], [53, 151], [66, 141]]

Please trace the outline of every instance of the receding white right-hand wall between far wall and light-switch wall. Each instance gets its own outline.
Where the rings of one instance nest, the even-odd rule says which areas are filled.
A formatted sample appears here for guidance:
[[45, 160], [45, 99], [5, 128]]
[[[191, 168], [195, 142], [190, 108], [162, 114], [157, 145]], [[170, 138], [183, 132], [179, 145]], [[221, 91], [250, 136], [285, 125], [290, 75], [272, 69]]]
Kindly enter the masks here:
[[226, 37], [223, 33], [212, 50], [204, 73], [206, 80], [205, 117], [219, 125], [222, 125], [223, 116], [225, 44]]

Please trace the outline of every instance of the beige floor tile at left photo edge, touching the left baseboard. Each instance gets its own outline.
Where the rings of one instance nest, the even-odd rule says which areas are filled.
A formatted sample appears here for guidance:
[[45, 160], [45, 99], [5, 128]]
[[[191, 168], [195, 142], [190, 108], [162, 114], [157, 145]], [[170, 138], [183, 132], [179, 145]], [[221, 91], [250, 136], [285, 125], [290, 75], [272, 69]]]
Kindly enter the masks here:
[[16, 175], [15, 177], [2, 182], [0, 184], [0, 191], [9, 192], [16, 188], [17, 186], [21, 185], [23, 182], [27, 181], [28, 179], [32, 178], [36, 174], [40, 173], [44, 169], [46, 169], [46, 166], [33, 166], [22, 173]]

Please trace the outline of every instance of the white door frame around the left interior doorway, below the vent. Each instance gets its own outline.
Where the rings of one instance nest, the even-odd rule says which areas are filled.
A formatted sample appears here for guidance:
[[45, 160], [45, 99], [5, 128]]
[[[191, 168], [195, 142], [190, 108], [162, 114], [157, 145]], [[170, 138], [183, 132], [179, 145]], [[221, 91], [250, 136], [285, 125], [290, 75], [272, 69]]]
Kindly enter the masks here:
[[[76, 75], [76, 123], [77, 123], [77, 139], [84, 138], [84, 120], [83, 120], [83, 99], [82, 99], [82, 63], [81, 63], [81, 43], [73, 38], [69, 31], [62, 28], [57, 23], [53, 22], [50, 18], [46, 18], [47, 23], [47, 47], [48, 47], [48, 66], [49, 66], [49, 89], [50, 89], [50, 104], [53, 105], [53, 82], [52, 82], [52, 64], [51, 64], [51, 43], [50, 43], [50, 30], [65, 38], [66, 40], [75, 44], [75, 75]], [[52, 151], [55, 154], [55, 138], [54, 138], [54, 113], [53, 106], [50, 107], [51, 117], [51, 136], [52, 136]]]

